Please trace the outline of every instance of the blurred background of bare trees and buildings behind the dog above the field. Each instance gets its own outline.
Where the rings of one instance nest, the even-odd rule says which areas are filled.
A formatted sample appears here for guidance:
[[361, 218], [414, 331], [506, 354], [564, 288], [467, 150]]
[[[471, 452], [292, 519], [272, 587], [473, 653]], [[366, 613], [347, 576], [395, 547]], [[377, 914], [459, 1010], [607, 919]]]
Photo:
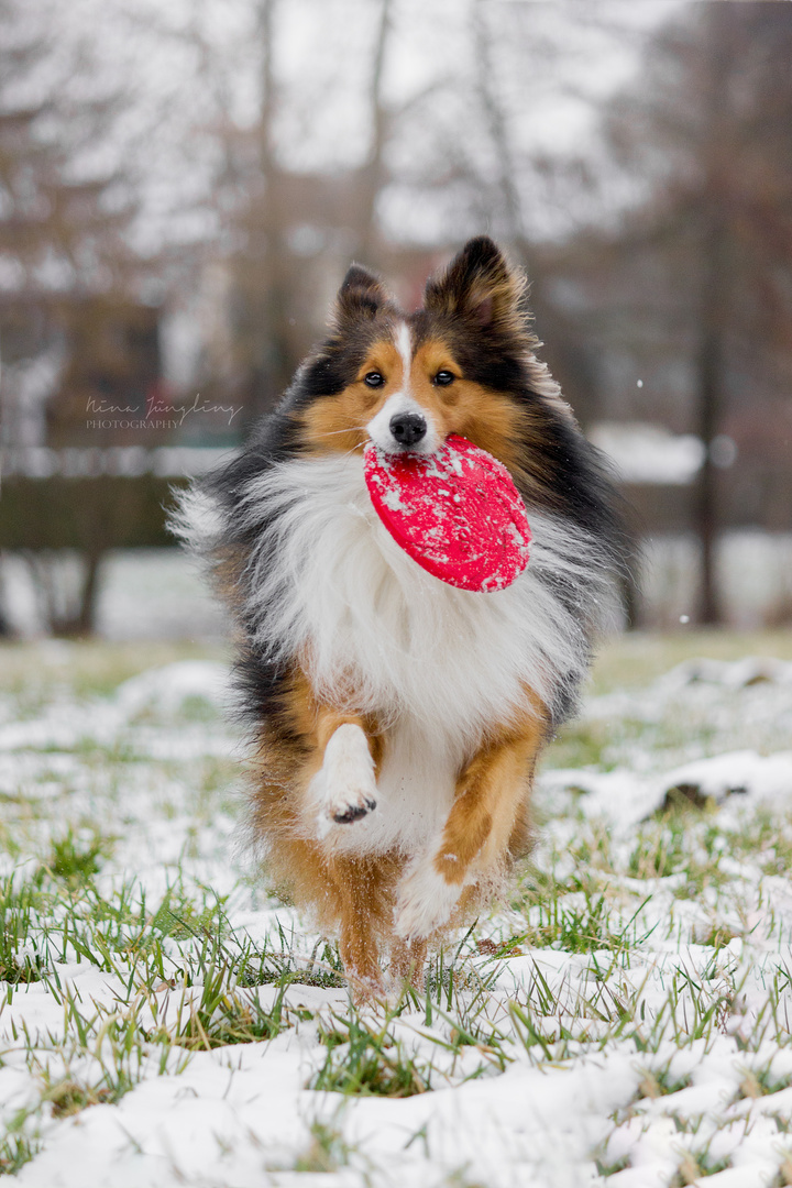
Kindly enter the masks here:
[[625, 623], [792, 625], [786, 0], [0, 0], [0, 633], [218, 639], [169, 487], [350, 260], [487, 232], [633, 508]]

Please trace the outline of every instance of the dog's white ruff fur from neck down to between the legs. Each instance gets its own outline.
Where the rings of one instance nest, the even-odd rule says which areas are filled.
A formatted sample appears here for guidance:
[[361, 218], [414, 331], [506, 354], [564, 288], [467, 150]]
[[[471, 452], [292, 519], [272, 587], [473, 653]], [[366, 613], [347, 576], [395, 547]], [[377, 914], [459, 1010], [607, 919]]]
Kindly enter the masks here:
[[[192, 544], [204, 551], [213, 533], [199, 510]], [[189, 519], [189, 500], [183, 512]], [[372, 712], [386, 728], [378, 807], [335, 828], [332, 845], [414, 854], [438, 843], [456, 777], [487, 729], [530, 712], [526, 687], [553, 709], [558, 678], [584, 670], [583, 627], [552, 579], [596, 579], [598, 550], [528, 507], [533, 543], [520, 577], [496, 593], [456, 589], [380, 523], [357, 453], [274, 466], [248, 484], [241, 517], [270, 525], [245, 571], [254, 646], [299, 657], [319, 697]], [[602, 577], [603, 602], [606, 593]]]

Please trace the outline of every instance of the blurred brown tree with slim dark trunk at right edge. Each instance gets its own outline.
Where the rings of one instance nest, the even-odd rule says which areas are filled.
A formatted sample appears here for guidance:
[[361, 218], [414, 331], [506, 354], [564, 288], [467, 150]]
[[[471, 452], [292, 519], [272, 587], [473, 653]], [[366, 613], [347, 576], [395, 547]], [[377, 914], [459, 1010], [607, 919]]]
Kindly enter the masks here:
[[756, 360], [788, 350], [792, 81], [790, 58], [781, 63], [790, 52], [786, 5], [692, 6], [653, 39], [640, 88], [622, 94], [609, 119], [610, 143], [632, 171], [635, 194], [610, 241], [612, 259], [620, 266], [644, 258], [653, 267], [655, 316], [671, 304], [669, 348], [688, 360], [690, 428], [705, 447], [693, 504], [703, 624], [722, 619], [716, 450], [730, 377], [741, 353]]

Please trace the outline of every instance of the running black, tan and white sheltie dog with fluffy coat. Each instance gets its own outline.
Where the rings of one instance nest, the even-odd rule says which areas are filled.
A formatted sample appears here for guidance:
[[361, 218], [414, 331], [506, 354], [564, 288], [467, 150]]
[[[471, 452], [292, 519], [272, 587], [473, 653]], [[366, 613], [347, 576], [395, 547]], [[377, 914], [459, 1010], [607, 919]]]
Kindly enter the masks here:
[[[176, 529], [239, 628], [254, 727], [251, 828], [275, 885], [337, 930], [361, 997], [420, 978], [531, 842], [537, 758], [575, 708], [621, 563], [604, 469], [534, 354], [524, 283], [470, 240], [403, 312], [353, 265], [329, 337]], [[449, 434], [511, 472], [532, 530], [496, 593], [420, 568], [379, 520], [370, 440]]]

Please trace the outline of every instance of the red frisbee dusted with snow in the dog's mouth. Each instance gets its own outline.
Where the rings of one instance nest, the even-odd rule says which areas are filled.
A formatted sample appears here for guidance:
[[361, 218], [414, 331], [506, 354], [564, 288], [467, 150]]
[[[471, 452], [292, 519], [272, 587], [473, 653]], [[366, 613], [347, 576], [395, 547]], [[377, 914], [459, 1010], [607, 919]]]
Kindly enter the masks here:
[[531, 529], [512, 476], [458, 434], [431, 455], [363, 454], [366, 485], [386, 529], [427, 573], [463, 590], [511, 586], [528, 563]]

